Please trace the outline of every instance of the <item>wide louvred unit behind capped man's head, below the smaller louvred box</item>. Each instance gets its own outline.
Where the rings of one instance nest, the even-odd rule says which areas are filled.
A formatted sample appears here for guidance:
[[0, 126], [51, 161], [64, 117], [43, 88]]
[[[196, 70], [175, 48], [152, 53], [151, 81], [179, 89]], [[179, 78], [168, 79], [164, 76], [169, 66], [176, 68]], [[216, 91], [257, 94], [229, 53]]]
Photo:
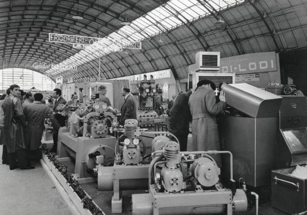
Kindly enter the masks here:
[[189, 74], [188, 77], [188, 87], [189, 89], [195, 90], [196, 84], [201, 80], [211, 80], [216, 89], [218, 89], [220, 83], [235, 83], [235, 74], [234, 73], [203, 73], [203, 72], [195, 72]]

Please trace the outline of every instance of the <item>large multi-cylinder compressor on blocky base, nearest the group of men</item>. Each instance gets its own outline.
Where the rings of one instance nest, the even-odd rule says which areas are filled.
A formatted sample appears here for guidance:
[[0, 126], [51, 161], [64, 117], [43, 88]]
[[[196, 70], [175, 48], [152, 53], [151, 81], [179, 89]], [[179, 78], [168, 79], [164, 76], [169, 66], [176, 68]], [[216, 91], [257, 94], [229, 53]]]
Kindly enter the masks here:
[[104, 102], [81, 105], [61, 127], [57, 156], [73, 159], [78, 180], [92, 178], [96, 165], [113, 165], [116, 138], [108, 135], [109, 128], [117, 127], [115, 110]]

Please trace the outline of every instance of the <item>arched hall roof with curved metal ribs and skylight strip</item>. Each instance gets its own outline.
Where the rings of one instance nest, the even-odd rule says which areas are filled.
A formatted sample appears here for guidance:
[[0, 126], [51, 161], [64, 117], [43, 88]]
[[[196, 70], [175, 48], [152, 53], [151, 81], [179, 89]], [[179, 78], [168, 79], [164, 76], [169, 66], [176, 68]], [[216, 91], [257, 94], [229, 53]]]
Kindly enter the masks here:
[[[49, 42], [48, 33], [55, 32], [94, 37], [113, 35], [116, 38], [120, 35], [132, 39], [141, 38], [141, 50], [128, 49], [101, 57], [102, 78], [171, 69], [175, 78], [184, 79], [187, 77], [188, 65], [195, 62], [195, 53], [198, 51], [220, 51], [221, 57], [228, 57], [307, 47], [305, 0], [179, 0], [178, 4], [185, 4], [185, 10], [180, 9], [185, 6], [179, 7], [174, 2], [4, 1], [0, 3], [0, 56], [3, 57], [0, 68], [29, 68], [34, 62], [57, 64], [80, 53], [71, 45]], [[162, 18], [150, 14], [153, 10], [159, 10]], [[191, 18], [189, 14], [192, 12], [199, 15], [193, 14]], [[83, 19], [72, 18], [78, 13]], [[173, 19], [166, 19], [163, 14], [170, 14], [169, 17]], [[122, 16], [133, 20], [132, 24], [123, 27], [119, 18]], [[224, 20], [223, 25], [216, 24], [220, 17]], [[151, 25], [142, 28], [142, 19]], [[175, 23], [171, 23], [171, 20]], [[163, 43], [158, 42], [160, 39]], [[85, 55], [76, 58], [81, 61], [81, 58], [86, 58]], [[98, 57], [97, 53], [93, 55]], [[62, 75], [64, 80], [73, 77], [82, 81], [83, 77], [97, 77], [98, 68], [99, 60], [95, 59], [81, 63], [77, 72], [32, 70], [50, 73], [52, 79]]]

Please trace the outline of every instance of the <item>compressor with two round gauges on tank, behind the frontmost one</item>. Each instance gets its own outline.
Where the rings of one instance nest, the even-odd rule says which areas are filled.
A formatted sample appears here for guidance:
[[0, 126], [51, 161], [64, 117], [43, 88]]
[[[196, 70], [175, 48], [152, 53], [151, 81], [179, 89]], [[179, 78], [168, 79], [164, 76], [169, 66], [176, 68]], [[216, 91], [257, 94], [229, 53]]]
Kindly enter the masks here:
[[[118, 129], [117, 129], [118, 130]], [[144, 128], [138, 126], [138, 120], [127, 119], [123, 129], [123, 147], [120, 142], [116, 145], [116, 155], [113, 166], [97, 165], [98, 189], [113, 190], [112, 212], [122, 212], [122, 190], [146, 189], [148, 187], [148, 168], [150, 152], [146, 156], [146, 145], [140, 140]], [[150, 132], [162, 134], [163, 132]], [[166, 132], [164, 132], [166, 134]], [[172, 135], [170, 133], [167, 133]], [[176, 137], [174, 137], [176, 139]], [[120, 140], [121, 138], [118, 138]], [[151, 151], [162, 149], [169, 140], [164, 135], [159, 135], [151, 141]], [[148, 150], [148, 149], [147, 149]]]

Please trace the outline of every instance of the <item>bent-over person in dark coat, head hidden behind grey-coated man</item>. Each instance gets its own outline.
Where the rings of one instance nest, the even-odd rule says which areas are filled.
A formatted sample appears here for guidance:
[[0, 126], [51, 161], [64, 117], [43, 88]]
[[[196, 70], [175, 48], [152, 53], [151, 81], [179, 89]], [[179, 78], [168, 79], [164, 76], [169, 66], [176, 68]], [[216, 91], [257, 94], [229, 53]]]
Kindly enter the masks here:
[[189, 97], [192, 91], [179, 94], [169, 112], [168, 132], [175, 135], [180, 144], [180, 150], [187, 150], [189, 121], [192, 120], [192, 115], [189, 107]]

